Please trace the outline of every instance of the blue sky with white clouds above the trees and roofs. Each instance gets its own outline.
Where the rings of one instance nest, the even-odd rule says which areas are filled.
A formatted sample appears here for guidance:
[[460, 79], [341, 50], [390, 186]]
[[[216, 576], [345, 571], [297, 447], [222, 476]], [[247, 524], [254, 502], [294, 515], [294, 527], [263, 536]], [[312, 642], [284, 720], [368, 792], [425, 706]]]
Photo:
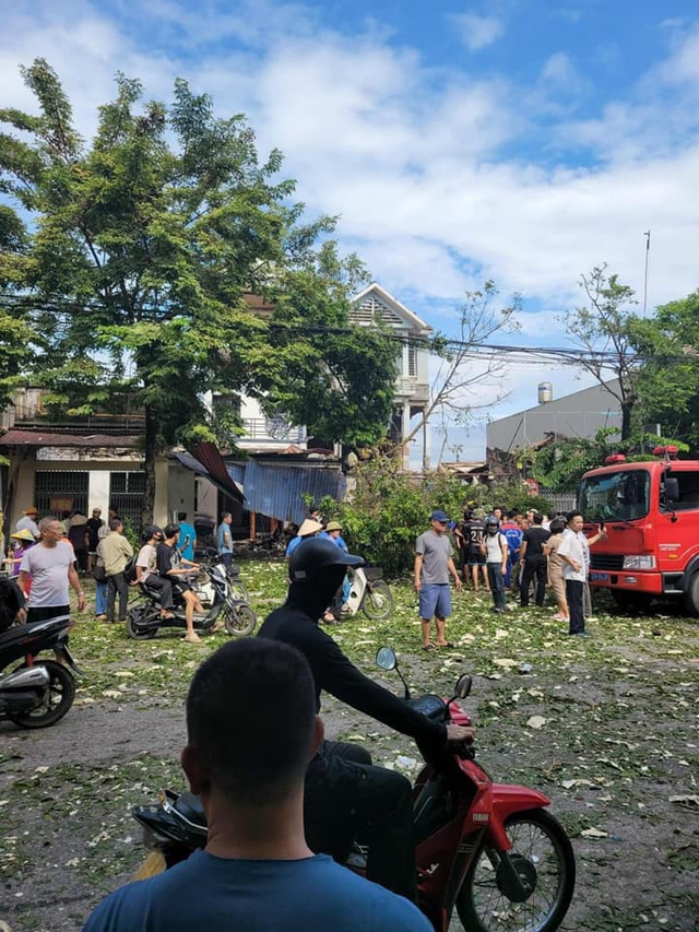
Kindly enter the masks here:
[[[43, 56], [88, 137], [114, 75], [168, 101], [185, 78], [284, 152], [309, 215], [435, 330], [465, 292], [523, 299], [496, 342], [561, 346], [582, 273], [606, 262], [648, 306], [699, 285], [699, 9], [678, 0], [15, 0], [3, 14], [3, 106], [33, 109], [20, 64]], [[477, 401], [491, 418], [591, 384], [513, 365]], [[508, 397], [498, 401], [502, 394]], [[439, 446], [441, 441], [436, 441]], [[462, 459], [485, 432], [450, 432]]]

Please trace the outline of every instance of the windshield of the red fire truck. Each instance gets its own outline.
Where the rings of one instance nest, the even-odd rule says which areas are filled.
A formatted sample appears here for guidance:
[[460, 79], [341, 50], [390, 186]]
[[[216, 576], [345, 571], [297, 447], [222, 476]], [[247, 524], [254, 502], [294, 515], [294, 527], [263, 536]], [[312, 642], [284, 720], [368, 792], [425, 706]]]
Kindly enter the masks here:
[[648, 515], [651, 477], [637, 469], [589, 475], [580, 484], [578, 507], [589, 521], [635, 521]]

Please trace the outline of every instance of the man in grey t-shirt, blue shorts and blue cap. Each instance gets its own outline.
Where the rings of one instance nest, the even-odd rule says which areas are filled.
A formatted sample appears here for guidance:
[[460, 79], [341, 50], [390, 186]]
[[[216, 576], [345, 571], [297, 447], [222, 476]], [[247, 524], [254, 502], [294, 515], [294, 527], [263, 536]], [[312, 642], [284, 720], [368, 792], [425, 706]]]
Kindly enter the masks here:
[[[443, 511], [433, 511], [431, 528], [415, 543], [414, 586], [419, 592], [419, 617], [423, 623], [423, 650], [451, 647], [446, 637], [447, 618], [451, 614], [449, 577], [453, 576], [457, 591], [461, 579], [452, 559], [451, 541], [447, 535], [449, 518]], [[437, 624], [437, 644], [430, 639], [433, 617]]]

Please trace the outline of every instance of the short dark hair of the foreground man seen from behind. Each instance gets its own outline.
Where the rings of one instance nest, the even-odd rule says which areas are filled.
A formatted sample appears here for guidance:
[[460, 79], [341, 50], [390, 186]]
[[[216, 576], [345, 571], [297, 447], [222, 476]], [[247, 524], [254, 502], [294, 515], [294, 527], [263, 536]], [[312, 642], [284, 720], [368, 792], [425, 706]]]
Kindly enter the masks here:
[[201, 664], [187, 696], [190, 745], [216, 788], [250, 805], [281, 802], [303, 782], [315, 716], [308, 661], [270, 638], [221, 647]]

